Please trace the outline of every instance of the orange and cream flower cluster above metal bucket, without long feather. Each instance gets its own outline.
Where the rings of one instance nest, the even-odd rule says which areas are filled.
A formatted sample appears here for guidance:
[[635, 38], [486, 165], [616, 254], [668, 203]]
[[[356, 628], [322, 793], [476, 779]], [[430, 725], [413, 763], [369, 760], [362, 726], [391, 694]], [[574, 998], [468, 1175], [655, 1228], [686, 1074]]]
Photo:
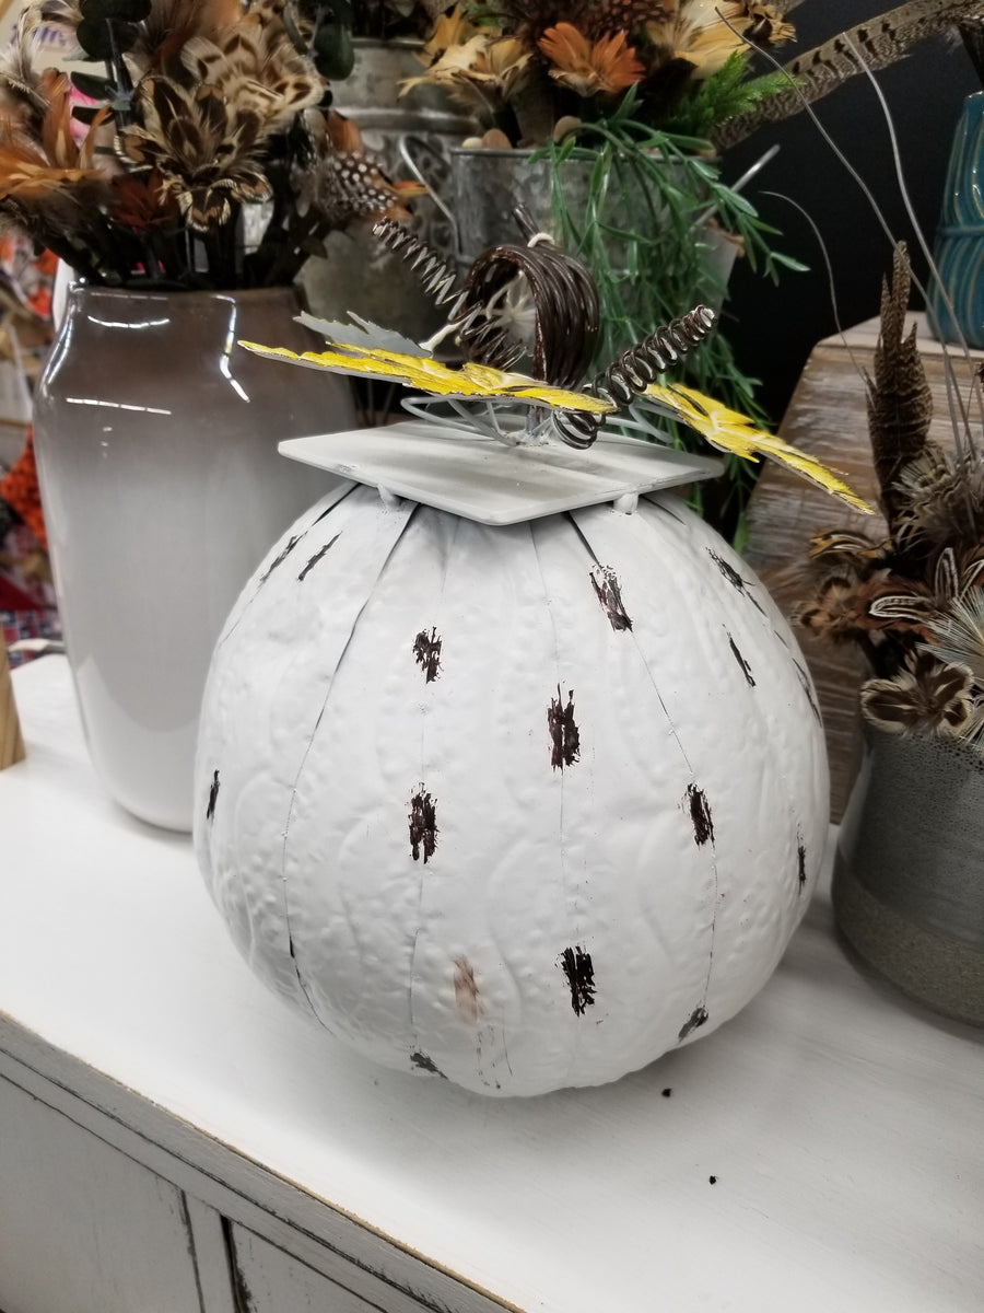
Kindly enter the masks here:
[[630, 88], [640, 122], [706, 137], [769, 93], [743, 85], [749, 51], [792, 34], [753, 0], [463, 0], [434, 26], [419, 80], [484, 118], [488, 146], [543, 146]]

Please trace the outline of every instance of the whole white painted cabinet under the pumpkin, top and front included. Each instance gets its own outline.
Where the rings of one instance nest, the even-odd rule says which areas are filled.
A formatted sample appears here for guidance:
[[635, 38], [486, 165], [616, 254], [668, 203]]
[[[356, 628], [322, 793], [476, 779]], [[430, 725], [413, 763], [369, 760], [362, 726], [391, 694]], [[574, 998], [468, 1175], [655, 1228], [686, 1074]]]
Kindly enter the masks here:
[[980, 1036], [849, 962], [825, 894], [723, 1029], [613, 1086], [487, 1100], [289, 1012], [189, 840], [104, 797], [63, 659], [14, 692], [4, 1313], [984, 1308]]

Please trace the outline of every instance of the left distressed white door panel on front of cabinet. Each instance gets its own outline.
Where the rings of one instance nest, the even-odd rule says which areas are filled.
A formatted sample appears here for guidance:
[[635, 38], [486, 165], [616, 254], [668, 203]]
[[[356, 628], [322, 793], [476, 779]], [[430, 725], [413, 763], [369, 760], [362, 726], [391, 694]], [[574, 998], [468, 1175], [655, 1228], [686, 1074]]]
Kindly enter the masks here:
[[0, 1309], [202, 1313], [182, 1192], [3, 1078]]

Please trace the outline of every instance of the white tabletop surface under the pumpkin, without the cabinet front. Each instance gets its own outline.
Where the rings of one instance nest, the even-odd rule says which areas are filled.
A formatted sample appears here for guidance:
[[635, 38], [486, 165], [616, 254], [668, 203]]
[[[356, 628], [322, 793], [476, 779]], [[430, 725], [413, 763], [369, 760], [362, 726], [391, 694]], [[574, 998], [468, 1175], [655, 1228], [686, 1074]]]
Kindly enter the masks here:
[[980, 1033], [849, 961], [824, 892], [720, 1031], [611, 1086], [491, 1100], [373, 1067], [287, 1011], [232, 949], [190, 842], [104, 797], [64, 660], [16, 671], [14, 692], [8, 1036], [523, 1313], [984, 1308]]

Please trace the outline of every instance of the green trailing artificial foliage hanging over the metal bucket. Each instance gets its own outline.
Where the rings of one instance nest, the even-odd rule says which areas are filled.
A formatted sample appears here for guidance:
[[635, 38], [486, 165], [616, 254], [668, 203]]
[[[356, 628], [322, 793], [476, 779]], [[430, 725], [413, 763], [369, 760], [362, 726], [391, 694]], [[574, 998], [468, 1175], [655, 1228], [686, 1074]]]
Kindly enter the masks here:
[[[668, 323], [701, 302], [722, 303], [726, 288], [711, 249], [716, 242], [737, 243], [752, 268], [771, 280], [781, 269], [803, 269], [773, 248], [777, 230], [722, 181], [706, 142], [649, 127], [634, 109], [630, 92], [613, 114], [580, 123], [563, 142], [550, 143], [534, 156], [550, 163], [558, 238], [584, 259], [598, 286], [600, 368], [627, 343], [646, 337], [655, 324]], [[568, 161], [581, 161], [590, 171], [580, 196], [569, 185]], [[714, 334], [686, 356], [682, 373], [698, 390], [768, 421], [756, 402], [756, 379], [739, 369], [727, 332]], [[693, 441], [687, 429], [674, 436], [682, 446]], [[731, 456], [726, 466], [712, 519], [741, 546], [754, 467]], [[698, 508], [710, 509], [701, 486], [694, 498]]]

